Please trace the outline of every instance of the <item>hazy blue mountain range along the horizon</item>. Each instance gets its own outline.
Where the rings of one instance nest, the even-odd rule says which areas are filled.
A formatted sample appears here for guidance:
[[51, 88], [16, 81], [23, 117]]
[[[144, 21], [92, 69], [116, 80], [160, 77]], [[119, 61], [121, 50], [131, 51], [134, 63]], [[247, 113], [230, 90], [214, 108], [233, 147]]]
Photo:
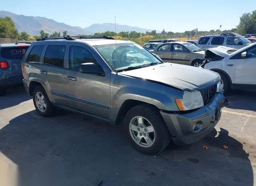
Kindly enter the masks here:
[[[81, 28], [78, 26], [70, 26], [64, 23], [56, 22], [52, 19], [38, 17], [38, 16], [24, 16], [17, 15], [12, 12], [0, 11], [0, 17], [10, 17], [12, 18], [16, 29], [18, 32], [27, 32], [29, 35], [38, 36], [40, 30], [44, 30], [47, 33], [52, 34], [53, 32], [63, 32], [67, 31], [68, 35], [75, 36], [78, 34], [94, 34], [96, 32], [106, 32], [113, 31], [115, 32], [115, 24], [114, 23], [103, 23], [103, 24], [92, 24], [89, 27]], [[116, 24], [116, 32], [151, 32], [150, 29], [139, 28], [136, 26], [127, 26]], [[160, 31], [157, 31], [160, 32]]]

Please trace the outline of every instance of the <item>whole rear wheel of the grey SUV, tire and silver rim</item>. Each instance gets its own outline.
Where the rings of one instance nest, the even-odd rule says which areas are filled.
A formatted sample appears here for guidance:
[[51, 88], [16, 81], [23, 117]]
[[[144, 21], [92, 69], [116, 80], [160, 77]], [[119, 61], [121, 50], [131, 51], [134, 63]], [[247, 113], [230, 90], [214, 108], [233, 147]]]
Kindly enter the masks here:
[[[43, 96], [43, 98], [41, 97], [41, 95]], [[40, 105], [43, 105], [41, 108], [40, 106], [38, 106], [36, 104], [36, 100], [38, 101], [38, 96], [41, 99], [40, 101]], [[52, 103], [50, 102], [44, 88], [42, 86], [37, 86], [34, 91], [33, 91], [33, 102], [34, 102], [34, 106], [36, 108], [36, 111], [38, 112], [38, 114], [40, 114], [41, 116], [44, 117], [50, 117], [52, 115], [55, 114], [56, 112], [56, 107], [54, 107], [52, 105]]]

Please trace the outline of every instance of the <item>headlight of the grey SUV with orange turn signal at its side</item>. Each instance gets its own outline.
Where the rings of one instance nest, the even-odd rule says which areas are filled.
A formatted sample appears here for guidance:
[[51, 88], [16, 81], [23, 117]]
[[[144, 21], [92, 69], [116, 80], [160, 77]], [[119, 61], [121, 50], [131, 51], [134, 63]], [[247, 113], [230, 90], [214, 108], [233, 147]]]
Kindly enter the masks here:
[[185, 91], [182, 99], [175, 99], [180, 111], [197, 109], [204, 106], [204, 101], [200, 91]]

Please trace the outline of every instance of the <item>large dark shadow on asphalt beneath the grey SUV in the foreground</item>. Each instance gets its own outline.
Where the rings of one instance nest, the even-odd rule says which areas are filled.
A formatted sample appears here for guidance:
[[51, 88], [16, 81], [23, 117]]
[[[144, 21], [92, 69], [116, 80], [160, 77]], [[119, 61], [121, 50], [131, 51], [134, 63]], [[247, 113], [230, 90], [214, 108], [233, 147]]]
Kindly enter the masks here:
[[135, 151], [125, 136], [122, 126], [83, 115], [30, 111], [0, 130], [0, 151], [18, 165], [19, 186], [253, 186], [248, 154], [224, 129], [156, 156]]

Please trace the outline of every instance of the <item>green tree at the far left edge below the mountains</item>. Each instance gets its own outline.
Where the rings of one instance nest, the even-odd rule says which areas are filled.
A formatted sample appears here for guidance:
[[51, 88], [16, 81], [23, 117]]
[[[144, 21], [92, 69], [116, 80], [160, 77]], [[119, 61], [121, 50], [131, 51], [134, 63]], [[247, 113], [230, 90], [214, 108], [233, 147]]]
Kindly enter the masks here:
[[0, 38], [16, 38], [18, 30], [10, 17], [0, 18]]

